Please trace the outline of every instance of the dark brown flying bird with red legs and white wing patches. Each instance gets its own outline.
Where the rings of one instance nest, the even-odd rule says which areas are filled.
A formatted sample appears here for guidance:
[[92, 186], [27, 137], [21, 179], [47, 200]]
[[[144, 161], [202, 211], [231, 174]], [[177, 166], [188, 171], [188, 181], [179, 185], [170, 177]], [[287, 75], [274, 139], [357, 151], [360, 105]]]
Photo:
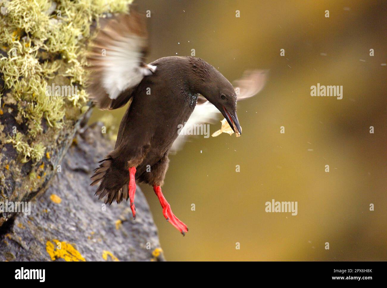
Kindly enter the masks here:
[[145, 17], [137, 12], [101, 20], [87, 55], [89, 95], [100, 109], [129, 105], [115, 148], [99, 161], [91, 185], [99, 184], [96, 196], [105, 203], [129, 199], [134, 218], [136, 181], [153, 186], [164, 217], [184, 235], [187, 225], [173, 214], [161, 191], [168, 154], [185, 141], [178, 127], [213, 122], [220, 113], [239, 136], [236, 102], [257, 94], [266, 73], [248, 72], [239, 80], [237, 95], [233, 85], [200, 58], [171, 56], [144, 63], [147, 30]]

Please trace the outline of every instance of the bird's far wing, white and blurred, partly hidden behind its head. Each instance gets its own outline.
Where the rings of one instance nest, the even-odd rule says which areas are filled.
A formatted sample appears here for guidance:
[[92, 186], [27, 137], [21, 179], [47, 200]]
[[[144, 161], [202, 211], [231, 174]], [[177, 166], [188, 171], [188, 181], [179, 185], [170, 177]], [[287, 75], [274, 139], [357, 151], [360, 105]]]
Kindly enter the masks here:
[[[234, 81], [237, 101], [245, 100], [258, 94], [266, 84], [267, 75], [267, 70], [245, 71], [242, 78]], [[189, 140], [191, 135], [187, 135], [187, 131], [195, 131], [194, 127], [197, 124], [213, 124], [219, 119], [219, 115], [221, 113], [214, 105], [203, 96], [199, 96], [194, 112], [192, 112], [187, 123], [180, 130], [179, 136], [173, 142], [171, 152], [176, 153], [181, 150], [185, 141]]]

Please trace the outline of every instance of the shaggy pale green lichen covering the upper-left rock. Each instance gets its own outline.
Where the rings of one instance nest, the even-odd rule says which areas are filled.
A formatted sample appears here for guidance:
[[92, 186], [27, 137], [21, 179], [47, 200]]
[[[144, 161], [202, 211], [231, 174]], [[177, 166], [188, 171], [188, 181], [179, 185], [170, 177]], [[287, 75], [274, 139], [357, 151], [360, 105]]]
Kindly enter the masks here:
[[[31, 146], [26, 141], [43, 132], [43, 119], [49, 127], [60, 129], [65, 116], [71, 115], [73, 120], [74, 115], [87, 111], [84, 51], [92, 21], [107, 12], [127, 12], [131, 2], [0, 0], [0, 49], [8, 55], [0, 57], [0, 73], [28, 126], [25, 137], [17, 133], [7, 141], [21, 153], [23, 161], [37, 161], [44, 154], [43, 144]], [[77, 94], [46, 96], [46, 87], [53, 83], [76, 85]]]

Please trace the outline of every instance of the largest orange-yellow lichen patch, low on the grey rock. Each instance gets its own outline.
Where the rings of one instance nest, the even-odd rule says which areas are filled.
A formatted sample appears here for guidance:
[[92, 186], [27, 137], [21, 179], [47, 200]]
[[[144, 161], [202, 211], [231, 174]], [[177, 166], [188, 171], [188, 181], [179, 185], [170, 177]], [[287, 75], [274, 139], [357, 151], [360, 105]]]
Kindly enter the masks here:
[[[62, 258], [65, 261], [86, 261], [71, 244], [64, 241], [60, 242], [57, 239], [53, 239], [52, 241], [46, 242], [46, 251], [50, 255], [51, 260]], [[56, 248], [55, 245], [57, 246]]]

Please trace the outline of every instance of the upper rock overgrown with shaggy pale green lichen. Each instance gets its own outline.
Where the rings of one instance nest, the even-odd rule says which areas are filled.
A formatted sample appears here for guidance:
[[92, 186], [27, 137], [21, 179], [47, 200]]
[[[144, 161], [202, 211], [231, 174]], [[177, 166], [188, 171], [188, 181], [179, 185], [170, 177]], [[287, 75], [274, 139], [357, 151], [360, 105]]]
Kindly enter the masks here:
[[0, 201], [33, 199], [54, 175], [90, 108], [91, 27], [130, 2], [0, 0]]

